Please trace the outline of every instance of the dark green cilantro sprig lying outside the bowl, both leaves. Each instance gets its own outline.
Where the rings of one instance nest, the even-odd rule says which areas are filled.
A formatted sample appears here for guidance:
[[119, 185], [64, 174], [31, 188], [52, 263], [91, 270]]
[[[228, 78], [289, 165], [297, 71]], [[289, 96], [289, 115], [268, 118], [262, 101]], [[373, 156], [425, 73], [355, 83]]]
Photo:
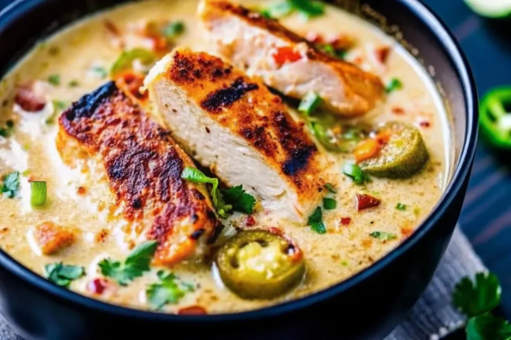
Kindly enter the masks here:
[[511, 325], [491, 311], [501, 297], [499, 279], [492, 273], [478, 273], [475, 282], [464, 277], [454, 287], [453, 304], [469, 317], [465, 331], [468, 340], [509, 340]]

